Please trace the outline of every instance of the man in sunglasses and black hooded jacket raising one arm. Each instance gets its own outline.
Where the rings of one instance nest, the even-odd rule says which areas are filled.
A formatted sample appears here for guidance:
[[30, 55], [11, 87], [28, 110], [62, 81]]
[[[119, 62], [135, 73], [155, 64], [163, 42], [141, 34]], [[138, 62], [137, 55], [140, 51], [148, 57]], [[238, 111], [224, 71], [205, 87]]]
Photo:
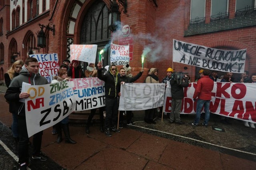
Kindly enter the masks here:
[[120, 92], [120, 83], [118, 82], [118, 69], [116, 65], [111, 65], [106, 74], [102, 74], [101, 63], [97, 64], [97, 75], [100, 80], [105, 82], [105, 133], [107, 137], [111, 137], [110, 129], [116, 133], [120, 130], [116, 129], [116, 118], [118, 113], [118, 93]]

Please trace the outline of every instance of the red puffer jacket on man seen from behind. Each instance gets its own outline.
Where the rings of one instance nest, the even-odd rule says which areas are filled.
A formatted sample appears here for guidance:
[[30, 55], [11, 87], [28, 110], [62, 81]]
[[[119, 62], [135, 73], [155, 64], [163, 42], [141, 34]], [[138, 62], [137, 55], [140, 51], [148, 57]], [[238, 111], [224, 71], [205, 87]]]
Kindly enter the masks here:
[[213, 80], [209, 76], [203, 76], [197, 81], [193, 98], [196, 99], [198, 97], [201, 100], [211, 100], [213, 86]]

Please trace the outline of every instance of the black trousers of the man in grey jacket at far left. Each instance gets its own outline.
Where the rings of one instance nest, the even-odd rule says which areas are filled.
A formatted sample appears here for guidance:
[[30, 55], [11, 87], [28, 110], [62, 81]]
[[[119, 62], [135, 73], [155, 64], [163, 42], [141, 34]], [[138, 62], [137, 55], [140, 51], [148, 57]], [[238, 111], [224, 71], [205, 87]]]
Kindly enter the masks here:
[[[28, 131], [26, 125], [26, 117], [18, 115], [18, 129], [19, 129], [19, 144], [18, 144], [18, 156], [20, 164], [28, 163]], [[42, 144], [43, 131], [40, 131], [33, 135], [33, 155], [40, 154]]]

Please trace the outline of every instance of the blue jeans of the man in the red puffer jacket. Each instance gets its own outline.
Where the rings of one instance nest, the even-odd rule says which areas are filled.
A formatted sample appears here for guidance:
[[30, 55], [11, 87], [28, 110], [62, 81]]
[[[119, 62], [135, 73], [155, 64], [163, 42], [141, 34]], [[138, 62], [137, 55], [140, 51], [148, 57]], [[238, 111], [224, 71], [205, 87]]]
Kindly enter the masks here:
[[198, 124], [199, 120], [200, 120], [200, 116], [201, 116], [201, 110], [204, 106], [204, 113], [205, 113], [205, 117], [204, 117], [204, 124], [208, 125], [208, 121], [210, 119], [210, 100], [201, 100], [198, 99], [197, 103], [196, 103], [196, 119], [194, 121], [194, 124]]

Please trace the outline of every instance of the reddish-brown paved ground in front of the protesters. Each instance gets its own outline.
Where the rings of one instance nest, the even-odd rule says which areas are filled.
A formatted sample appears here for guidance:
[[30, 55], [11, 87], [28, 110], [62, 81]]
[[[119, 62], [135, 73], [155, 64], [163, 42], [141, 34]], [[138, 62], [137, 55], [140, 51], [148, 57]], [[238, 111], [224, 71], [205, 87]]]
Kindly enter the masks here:
[[[17, 155], [9, 129], [12, 119], [4, 103], [0, 86], [0, 140]], [[70, 134], [77, 144], [57, 144], [51, 128], [44, 130], [42, 152], [47, 161], [32, 160], [32, 170], [86, 169], [256, 169], [256, 129], [244, 127], [232, 119], [232, 125], [220, 123], [211, 114], [208, 127], [192, 127], [194, 115], [181, 115], [184, 125], [170, 124], [164, 116], [156, 125], [143, 121], [144, 111], [135, 111], [136, 126], [124, 126], [120, 133], [106, 137], [94, 124], [86, 135], [85, 124], [70, 125]], [[223, 132], [214, 127], [224, 129]], [[31, 155], [30, 147], [30, 155]], [[16, 170], [17, 162], [0, 146], [0, 170]]]

